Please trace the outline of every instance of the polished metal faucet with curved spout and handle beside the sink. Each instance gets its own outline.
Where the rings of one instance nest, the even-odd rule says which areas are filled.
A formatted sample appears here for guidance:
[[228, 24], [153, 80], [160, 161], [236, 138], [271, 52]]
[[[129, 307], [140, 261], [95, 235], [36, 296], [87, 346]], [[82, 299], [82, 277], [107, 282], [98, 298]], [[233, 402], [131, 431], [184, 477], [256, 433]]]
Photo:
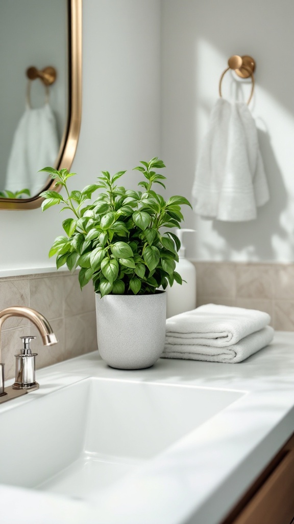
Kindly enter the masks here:
[[[43, 344], [45, 346], [52, 346], [58, 341], [54, 335], [52, 328], [48, 320], [38, 311], [31, 308], [25, 308], [22, 306], [15, 305], [11, 308], [5, 308], [0, 311], [0, 337], [3, 322], [9, 318], [9, 316], [22, 316], [30, 320], [38, 328]], [[29, 347], [29, 342], [35, 337], [26, 336], [21, 337], [24, 342], [24, 350], [20, 355], [16, 356], [16, 379], [13, 386], [9, 386], [7, 390], [4, 389], [4, 364], [1, 363], [1, 340], [0, 340], [0, 402], [9, 400], [19, 395], [27, 393], [28, 390], [37, 389], [39, 384], [35, 380], [35, 357], [37, 353], [32, 353]], [[9, 390], [9, 391], [8, 391]], [[15, 392], [12, 390], [19, 390]], [[2, 398], [6, 395], [9, 398]]]

